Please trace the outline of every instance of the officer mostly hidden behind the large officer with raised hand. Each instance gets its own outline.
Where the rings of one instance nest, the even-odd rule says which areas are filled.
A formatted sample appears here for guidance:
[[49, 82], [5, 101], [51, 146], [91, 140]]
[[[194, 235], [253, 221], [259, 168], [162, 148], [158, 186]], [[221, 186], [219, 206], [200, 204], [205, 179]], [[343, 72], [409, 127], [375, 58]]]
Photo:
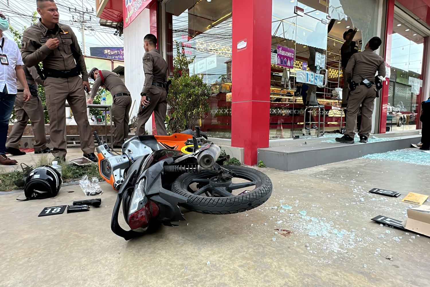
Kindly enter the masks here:
[[28, 102], [24, 101], [24, 87], [18, 82], [18, 93], [16, 94], [14, 106], [16, 123], [9, 133], [6, 142], [6, 151], [12, 155], [25, 154], [24, 151], [19, 150], [19, 142], [30, 119], [34, 133], [34, 153], [46, 154], [51, 152], [51, 150], [46, 147], [45, 114], [43, 113], [42, 102], [40, 102], [39, 95], [37, 94], [37, 84], [43, 85], [43, 81], [37, 74], [36, 68], [31, 67], [28, 69], [25, 66], [22, 66], [22, 68], [24, 69], [25, 78], [30, 89], [31, 99]]

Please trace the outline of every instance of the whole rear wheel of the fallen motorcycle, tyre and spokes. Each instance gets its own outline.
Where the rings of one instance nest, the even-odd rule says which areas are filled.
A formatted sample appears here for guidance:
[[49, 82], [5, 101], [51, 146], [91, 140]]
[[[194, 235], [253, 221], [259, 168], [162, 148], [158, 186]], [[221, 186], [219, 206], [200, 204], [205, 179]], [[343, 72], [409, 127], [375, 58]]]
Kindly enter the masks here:
[[[172, 191], [187, 197], [182, 204], [188, 210], [206, 214], [231, 214], [244, 212], [260, 206], [272, 194], [272, 182], [269, 177], [258, 170], [242, 166], [224, 166], [235, 173], [234, 178], [247, 182], [214, 183], [218, 174], [213, 171], [185, 173], [179, 176], [172, 185]], [[197, 190], [191, 185], [197, 183]], [[233, 194], [233, 191], [255, 186], [250, 191]]]

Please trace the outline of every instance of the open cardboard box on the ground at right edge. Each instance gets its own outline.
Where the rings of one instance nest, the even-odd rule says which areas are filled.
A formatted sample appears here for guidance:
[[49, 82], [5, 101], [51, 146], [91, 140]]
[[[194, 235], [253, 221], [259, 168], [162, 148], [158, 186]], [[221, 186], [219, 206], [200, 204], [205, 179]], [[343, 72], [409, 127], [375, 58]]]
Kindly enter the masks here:
[[430, 205], [408, 209], [408, 219], [403, 226], [410, 231], [430, 236]]

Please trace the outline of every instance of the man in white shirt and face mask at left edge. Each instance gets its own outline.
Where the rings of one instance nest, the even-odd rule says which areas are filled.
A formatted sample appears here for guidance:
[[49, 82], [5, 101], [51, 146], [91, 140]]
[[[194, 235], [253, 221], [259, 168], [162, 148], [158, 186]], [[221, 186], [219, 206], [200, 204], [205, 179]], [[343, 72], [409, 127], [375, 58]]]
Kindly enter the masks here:
[[0, 11], [0, 164], [17, 164], [16, 160], [6, 157], [6, 139], [9, 119], [16, 98], [16, 79], [24, 87], [24, 101], [31, 98], [27, 80], [22, 69], [22, 56], [18, 45], [3, 35], [9, 29], [9, 23]]

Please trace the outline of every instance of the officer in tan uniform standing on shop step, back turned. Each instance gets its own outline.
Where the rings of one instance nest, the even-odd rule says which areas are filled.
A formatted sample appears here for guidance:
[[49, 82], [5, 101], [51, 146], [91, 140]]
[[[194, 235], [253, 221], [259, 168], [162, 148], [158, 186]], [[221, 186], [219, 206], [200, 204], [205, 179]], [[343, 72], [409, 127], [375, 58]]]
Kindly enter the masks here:
[[373, 37], [366, 44], [365, 50], [354, 54], [345, 69], [345, 78], [351, 78], [350, 97], [347, 106], [346, 130], [337, 142], [354, 143], [356, 117], [360, 105], [362, 120], [359, 131], [360, 142], [367, 142], [372, 130], [372, 113], [378, 89], [375, 86], [375, 74], [385, 77], [385, 63], [374, 51], [381, 46], [381, 39]]

